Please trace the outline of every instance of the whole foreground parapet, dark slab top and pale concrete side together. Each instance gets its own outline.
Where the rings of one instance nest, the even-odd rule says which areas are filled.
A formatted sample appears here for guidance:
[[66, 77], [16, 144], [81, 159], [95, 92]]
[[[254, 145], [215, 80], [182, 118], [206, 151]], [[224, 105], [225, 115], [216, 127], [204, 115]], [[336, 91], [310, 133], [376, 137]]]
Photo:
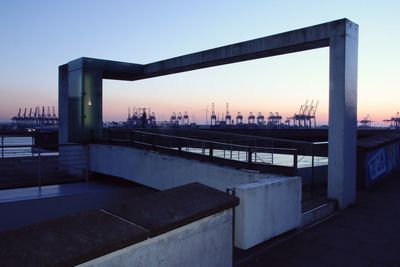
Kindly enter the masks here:
[[[237, 204], [237, 198], [198, 183], [156, 192], [154, 197], [126, 201], [118, 209], [121, 216], [91, 210], [2, 232], [0, 265], [76, 265], [114, 251], [119, 254], [151, 237], [156, 239], [138, 246], [138, 251], [135, 247], [124, 252], [124, 257], [139, 254], [137, 260], [144, 266], [179, 266], [193, 260], [200, 266], [230, 265], [232, 208]], [[124, 212], [132, 210], [134, 216]]]

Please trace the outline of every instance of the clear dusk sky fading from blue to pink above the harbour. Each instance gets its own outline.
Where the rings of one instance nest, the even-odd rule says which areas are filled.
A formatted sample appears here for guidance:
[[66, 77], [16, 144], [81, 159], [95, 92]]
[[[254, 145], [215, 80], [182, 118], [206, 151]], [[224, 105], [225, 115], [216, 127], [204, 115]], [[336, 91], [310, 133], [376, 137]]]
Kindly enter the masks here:
[[[150, 63], [348, 18], [359, 25], [358, 118], [376, 125], [400, 110], [400, 1], [0, 1], [0, 121], [18, 108], [55, 106], [58, 66], [85, 56]], [[157, 119], [188, 111], [298, 112], [319, 100], [327, 123], [328, 48], [136, 82], [104, 81], [104, 120], [128, 107]]]

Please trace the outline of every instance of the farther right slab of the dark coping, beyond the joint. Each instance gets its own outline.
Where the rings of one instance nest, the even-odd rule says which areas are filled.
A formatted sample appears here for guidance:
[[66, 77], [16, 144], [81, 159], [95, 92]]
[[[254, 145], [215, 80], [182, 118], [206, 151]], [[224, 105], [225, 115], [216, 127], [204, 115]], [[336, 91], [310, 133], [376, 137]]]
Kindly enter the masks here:
[[191, 183], [107, 211], [146, 228], [150, 236], [156, 236], [238, 204], [236, 197], [200, 183]]

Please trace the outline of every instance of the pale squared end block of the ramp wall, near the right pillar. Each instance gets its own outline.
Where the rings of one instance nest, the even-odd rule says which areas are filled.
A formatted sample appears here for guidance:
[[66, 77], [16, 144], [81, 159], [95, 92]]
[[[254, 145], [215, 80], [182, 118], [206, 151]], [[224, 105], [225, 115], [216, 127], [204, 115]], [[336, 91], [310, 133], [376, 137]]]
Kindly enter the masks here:
[[271, 178], [233, 187], [235, 246], [248, 249], [301, 223], [301, 178]]

